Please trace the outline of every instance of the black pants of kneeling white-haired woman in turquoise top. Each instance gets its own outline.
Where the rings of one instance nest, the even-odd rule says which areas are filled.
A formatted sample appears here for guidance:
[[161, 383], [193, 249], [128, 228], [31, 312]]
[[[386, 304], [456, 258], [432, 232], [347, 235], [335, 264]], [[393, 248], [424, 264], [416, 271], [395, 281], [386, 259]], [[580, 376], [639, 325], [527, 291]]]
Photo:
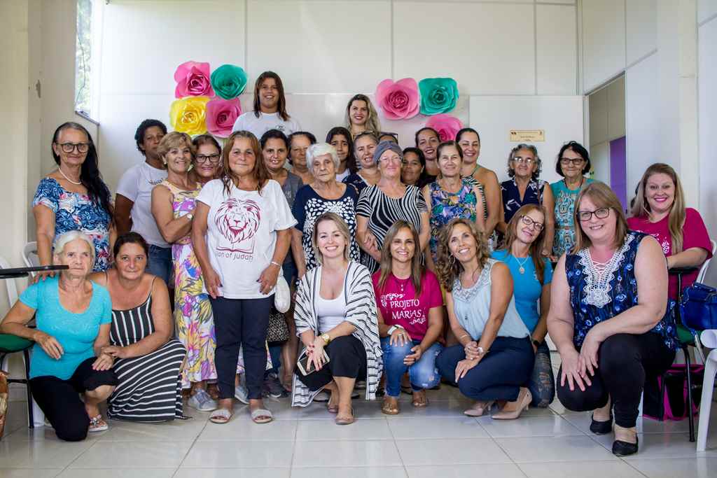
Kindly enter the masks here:
[[[41, 376], [30, 379], [32, 398], [52, 424], [57, 438], [65, 441], [81, 441], [87, 437], [90, 417], [87, 416], [85, 403], [79, 393], [95, 390], [103, 385], [116, 386], [115, 372], [110, 370], [92, 370], [97, 358], [88, 358], [77, 365], [75, 373], [67, 380], [54, 376]], [[32, 406], [32, 403], [28, 403]]]

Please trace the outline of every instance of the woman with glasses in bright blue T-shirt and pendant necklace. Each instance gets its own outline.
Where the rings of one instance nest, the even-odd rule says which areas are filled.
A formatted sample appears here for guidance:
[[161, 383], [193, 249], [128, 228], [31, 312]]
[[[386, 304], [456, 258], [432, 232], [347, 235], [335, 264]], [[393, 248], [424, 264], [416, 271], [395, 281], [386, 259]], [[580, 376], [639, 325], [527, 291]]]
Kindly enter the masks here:
[[505, 262], [511, 269], [516, 309], [531, 333], [536, 361], [526, 388], [531, 393], [531, 405], [540, 408], [546, 408], [555, 398], [553, 364], [545, 343], [550, 283], [553, 279], [553, 267], [541, 254], [545, 240], [545, 216], [545, 209], [538, 204], [527, 204], [518, 209], [508, 223], [505, 244], [492, 254], [493, 259]]

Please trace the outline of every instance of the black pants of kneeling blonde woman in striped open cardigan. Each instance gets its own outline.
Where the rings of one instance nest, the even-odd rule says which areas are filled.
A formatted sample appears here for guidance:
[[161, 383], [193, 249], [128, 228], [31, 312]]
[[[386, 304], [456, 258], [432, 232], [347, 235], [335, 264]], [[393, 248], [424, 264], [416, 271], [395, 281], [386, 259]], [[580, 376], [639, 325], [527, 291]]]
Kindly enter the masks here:
[[366, 380], [366, 348], [361, 340], [353, 335], [343, 335], [326, 345], [328, 363], [304, 376], [296, 369], [297, 378], [309, 388], [317, 391], [327, 386], [334, 377], [357, 378]]

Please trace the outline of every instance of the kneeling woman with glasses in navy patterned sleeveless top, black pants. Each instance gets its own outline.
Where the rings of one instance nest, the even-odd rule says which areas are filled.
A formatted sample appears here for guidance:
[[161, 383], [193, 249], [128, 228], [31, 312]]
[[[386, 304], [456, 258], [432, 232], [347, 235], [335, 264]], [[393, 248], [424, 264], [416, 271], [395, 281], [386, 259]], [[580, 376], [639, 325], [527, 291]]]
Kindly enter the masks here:
[[654, 237], [630, 231], [617, 196], [598, 181], [575, 201], [575, 245], [558, 261], [548, 332], [560, 353], [558, 398], [592, 411], [590, 430], [612, 432], [612, 453], [637, 453], [645, 378], [675, 358], [668, 269]]

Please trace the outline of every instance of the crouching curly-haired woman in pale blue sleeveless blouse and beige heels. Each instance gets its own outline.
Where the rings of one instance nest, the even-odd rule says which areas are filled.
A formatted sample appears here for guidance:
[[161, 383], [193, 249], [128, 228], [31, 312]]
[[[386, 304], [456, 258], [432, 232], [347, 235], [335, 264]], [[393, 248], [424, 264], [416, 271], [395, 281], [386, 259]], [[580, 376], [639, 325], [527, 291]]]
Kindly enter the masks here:
[[473, 222], [453, 219], [441, 231], [438, 277], [446, 290], [450, 326], [460, 342], [438, 355], [441, 375], [476, 402], [464, 413], [481, 416], [507, 401], [494, 419], [516, 419], [532, 396], [523, 384], [533, 371], [530, 334], [518, 315], [511, 271], [490, 259]]

